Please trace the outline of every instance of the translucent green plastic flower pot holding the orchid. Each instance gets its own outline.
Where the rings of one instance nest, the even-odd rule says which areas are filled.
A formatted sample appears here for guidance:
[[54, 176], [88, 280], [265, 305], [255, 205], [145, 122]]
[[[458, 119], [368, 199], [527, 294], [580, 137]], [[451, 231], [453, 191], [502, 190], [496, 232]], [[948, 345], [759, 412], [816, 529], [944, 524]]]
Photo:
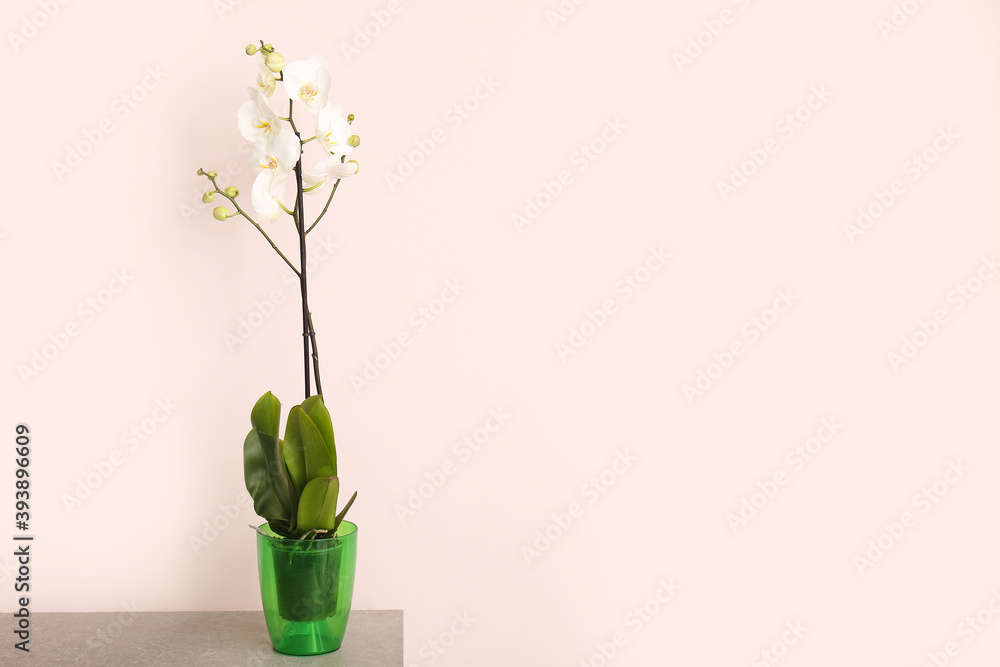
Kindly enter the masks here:
[[257, 529], [260, 597], [275, 651], [318, 655], [340, 648], [354, 595], [358, 527], [343, 521], [337, 533], [289, 540], [266, 523]]

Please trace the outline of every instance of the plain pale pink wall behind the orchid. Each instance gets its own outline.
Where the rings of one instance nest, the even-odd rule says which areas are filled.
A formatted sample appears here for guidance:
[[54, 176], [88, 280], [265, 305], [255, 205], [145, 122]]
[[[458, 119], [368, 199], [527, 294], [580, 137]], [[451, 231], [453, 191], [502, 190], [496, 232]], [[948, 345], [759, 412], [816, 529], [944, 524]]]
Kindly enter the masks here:
[[302, 398], [300, 315], [195, 171], [249, 193], [263, 39], [357, 116], [312, 307], [355, 607], [408, 666], [1000, 652], [996, 3], [4, 15], [34, 611], [259, 608], [241, 444]]

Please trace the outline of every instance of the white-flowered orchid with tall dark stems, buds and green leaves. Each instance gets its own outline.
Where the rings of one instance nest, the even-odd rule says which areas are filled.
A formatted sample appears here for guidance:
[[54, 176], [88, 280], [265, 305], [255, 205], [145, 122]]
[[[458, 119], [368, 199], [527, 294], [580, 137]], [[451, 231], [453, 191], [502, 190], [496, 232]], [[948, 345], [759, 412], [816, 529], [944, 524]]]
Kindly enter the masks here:
[[[217, 206], [212, 215], [217, 220], [243, 217], [259, 231], [299, 280], [302, 297], [302, 356], [305, 376], [305, 399], [288, 415], [285, 438], [278, 435], [281, 404], [267, 392], [251, 412], [252, 429], [243, 445], [244, 477], [247, 490], [254, 500], [254, 510], [268, 520], [272, 530], [283, 537], [307, 539], [330, 537], [336, 530], [357, 493], [337, 513], [340, 489], [337, 477], [337, 454], [333, 424], [323, 405], [323, 385], [319, 373], [319, 350], [316, 330], [309, 311], [306, 275], [306, 237], [326, 215], [341, 180], [358, 173], [356, 160], [348, 160], [361, 143], [353, 134], [354, 115], [343, 115], [341, 108], [330, 102], [332, 77], [326, 61], [313, 56], [308, 60], [285, 62], [271, 44], [246, 47], [249, 56], [257, 60], [257, 78], [247, 88], [249, 100], [236, 114], [240, 134], [253, 146], [251, 170], [254, 182], [250, 203], [256, 213], [251, 216], [237, 201], [238, 188], [220, 188], [218, 173], [198, 170], [212, 189], [202, 201], [211, 203], [216, 195], [229, 201]], [[275, 111], [269, 100], [275, 97], [278, 83], [284, 95], [278, 95], [278, 106], [286, 115]], [[296, 103], [304, 108], [315, 126], [313, 136], [303, 139], [295, 122]], [[300, 124], [302, 123], [300, 117]], [[315, 141], [321, 149], [318, 160], [305, 171], [303, 156], [306, 144]], [[294, 179], [289, 177], [294, 175]], [[294, 187], [289, 187], [293, 184]], [[323, 210], [311, 223], [305, 216], [304, 195], [321, 194], [329, 187]], [[291, 195], [291, 196], [289, 196]], [[230, 209], [232, 207], [232, 210]], [[298, 267], [278, 248], [264, 229], [288, 215], [298, 237]], [[316, 394], [312, 394], [310, 378], [315, 379]]]

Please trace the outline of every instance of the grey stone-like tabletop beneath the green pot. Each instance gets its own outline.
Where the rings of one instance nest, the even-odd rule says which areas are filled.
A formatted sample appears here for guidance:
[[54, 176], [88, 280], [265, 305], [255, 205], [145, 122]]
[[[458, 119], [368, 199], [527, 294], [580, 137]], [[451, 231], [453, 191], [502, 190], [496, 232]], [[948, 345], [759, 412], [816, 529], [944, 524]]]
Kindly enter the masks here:
[[0, 665], [402, 667], [403, 612], [352, 611], [343, 645], [312, 657], [277, 653], [259, 611], [39, 613], [31, 651], [14, 641], [0, 646]]

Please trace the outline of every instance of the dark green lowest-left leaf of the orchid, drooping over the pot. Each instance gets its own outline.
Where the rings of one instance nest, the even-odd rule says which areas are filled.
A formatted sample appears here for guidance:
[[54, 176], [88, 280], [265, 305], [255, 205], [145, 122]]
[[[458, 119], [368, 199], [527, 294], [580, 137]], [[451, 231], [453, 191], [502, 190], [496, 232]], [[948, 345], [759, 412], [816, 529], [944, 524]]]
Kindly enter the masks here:
[[281, 443], [273, 435], [252, 429], [243, 441], [243, 478], [253, 498], [253, 509], [279, 534], [295, 530], [298, 494], [281, 457]]

